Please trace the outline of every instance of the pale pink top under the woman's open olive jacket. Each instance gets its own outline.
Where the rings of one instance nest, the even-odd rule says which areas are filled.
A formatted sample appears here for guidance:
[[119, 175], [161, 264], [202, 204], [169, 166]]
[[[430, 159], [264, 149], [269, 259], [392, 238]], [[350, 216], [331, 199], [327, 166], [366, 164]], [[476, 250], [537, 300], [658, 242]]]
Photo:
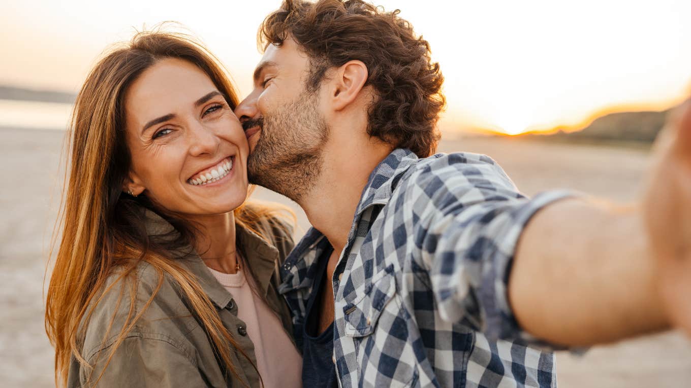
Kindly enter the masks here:
[[302, 357], [276, 313], [252, 292], [242, 269], [238, 273], [223, 273], [210, 268], [209, 271], [238, 304], [238, 318], [245, 322], [247, 335], [254, 343], [257, 369], [264, 387], [301, 387]]

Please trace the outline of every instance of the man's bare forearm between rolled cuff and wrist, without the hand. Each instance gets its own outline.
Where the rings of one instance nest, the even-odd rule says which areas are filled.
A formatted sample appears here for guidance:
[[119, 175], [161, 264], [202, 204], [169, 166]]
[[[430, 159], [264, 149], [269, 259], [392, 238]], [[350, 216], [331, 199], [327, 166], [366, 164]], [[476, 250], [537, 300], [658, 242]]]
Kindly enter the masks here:
[[542, 340], [585, 346], [664, 329], [640, 214], [589, 200], [538, 212], [509, 279], [520, 326]]

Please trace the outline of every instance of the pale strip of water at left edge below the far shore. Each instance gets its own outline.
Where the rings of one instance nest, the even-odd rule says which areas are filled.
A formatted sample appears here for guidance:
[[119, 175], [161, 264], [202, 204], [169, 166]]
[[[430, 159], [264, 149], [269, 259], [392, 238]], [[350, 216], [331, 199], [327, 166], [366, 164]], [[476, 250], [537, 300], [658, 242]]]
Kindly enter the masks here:
[[71, 104], [0, 99], [0, 128], [64, 130]]

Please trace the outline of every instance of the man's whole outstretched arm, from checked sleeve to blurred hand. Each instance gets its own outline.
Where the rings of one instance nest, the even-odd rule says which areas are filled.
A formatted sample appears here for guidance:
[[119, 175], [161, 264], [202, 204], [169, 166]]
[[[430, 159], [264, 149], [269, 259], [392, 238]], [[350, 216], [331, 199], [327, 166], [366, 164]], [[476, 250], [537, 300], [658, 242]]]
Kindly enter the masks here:
[[422, 165], [403, 209], [440, 318], [558, 347], [672, 324], [691, 333], [689, 104], [665, 132], [647, 194], [629, 208], [558, 192], [527, 200], [480, 155]]

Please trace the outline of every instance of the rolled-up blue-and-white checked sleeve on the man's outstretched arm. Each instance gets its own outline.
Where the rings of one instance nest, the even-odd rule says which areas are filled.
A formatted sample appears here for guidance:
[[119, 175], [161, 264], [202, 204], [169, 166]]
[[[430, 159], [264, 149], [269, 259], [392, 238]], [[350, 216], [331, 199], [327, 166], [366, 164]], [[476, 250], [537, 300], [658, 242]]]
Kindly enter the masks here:
[[[518, 327], [507, 283], [518, 239], [531, 217], [573, 195], [524, 197], [484, 155], [451, 154], [421, 166], [406, 180], [404, 214], [430, 275], [439, 315], [489, 338], [544, 345]], [[536, 276], [540, 276], [536, 273]]]

